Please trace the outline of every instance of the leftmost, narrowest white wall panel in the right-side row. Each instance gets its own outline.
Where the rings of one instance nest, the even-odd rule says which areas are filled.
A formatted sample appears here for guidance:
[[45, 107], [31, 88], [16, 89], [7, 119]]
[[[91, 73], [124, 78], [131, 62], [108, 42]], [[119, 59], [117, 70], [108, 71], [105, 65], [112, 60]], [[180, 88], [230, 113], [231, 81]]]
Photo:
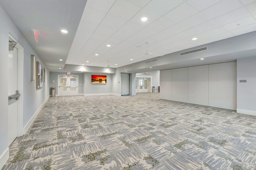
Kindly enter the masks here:
[[172, 70], [160, 70], [160, 99], [172, 100]]

